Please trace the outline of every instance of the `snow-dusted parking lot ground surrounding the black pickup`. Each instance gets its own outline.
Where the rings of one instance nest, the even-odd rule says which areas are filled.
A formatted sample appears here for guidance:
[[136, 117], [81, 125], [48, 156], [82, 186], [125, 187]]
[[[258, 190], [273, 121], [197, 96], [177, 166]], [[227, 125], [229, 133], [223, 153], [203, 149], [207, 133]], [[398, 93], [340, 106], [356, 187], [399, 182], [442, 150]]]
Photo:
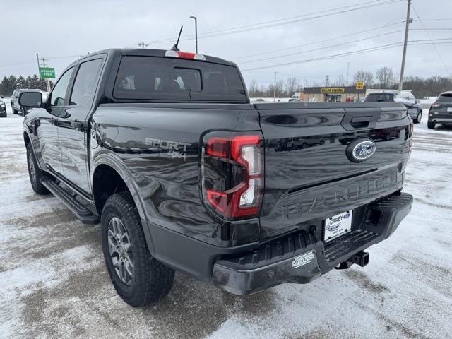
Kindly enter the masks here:
[[[134, 309], [109, 283], [100, 227], [28, 181], [22, 117], [0, 118], [0, 338], [451, 338], [452, 128], [415, 125], [412, 213], [370, 263], [246, 297], [177, 274]], [[114, 334], [113, 334], [114, 333]]]

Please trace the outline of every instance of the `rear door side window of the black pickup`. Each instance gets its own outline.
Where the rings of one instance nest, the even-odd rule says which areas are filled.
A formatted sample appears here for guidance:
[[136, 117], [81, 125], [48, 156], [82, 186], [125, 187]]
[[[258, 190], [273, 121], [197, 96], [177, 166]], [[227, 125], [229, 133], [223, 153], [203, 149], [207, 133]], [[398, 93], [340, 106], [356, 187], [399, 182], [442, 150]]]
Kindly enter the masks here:
[[83, 62], [78, 69], [69, 105], [84, 105], [93, 94], [102, 59]]

